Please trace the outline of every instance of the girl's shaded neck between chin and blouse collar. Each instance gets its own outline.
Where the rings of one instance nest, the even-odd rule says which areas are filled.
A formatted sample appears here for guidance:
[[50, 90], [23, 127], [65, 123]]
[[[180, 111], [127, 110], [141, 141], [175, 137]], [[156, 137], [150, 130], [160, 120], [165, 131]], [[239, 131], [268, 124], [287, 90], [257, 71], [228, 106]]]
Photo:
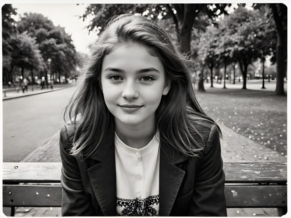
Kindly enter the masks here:
[[115, 119], [115, 132], [120, 140], [127, 146], [141, 149], [145, 147], [155, 135], [155, 119], [137, 125], [123, 124]]

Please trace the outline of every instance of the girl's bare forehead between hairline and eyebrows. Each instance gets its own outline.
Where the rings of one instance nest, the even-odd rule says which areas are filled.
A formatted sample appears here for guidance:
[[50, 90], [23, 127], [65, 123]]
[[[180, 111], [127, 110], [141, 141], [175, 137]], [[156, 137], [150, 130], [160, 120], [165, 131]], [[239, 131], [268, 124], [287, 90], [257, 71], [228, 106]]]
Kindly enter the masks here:
[[103, 58], [102, 70], [107, 67], [122, 69], [154, 67], [159, 71], [164, 69], [160, 58], [153, 56], [151, 49], [138, 43], [120, 43], [114, 46]]

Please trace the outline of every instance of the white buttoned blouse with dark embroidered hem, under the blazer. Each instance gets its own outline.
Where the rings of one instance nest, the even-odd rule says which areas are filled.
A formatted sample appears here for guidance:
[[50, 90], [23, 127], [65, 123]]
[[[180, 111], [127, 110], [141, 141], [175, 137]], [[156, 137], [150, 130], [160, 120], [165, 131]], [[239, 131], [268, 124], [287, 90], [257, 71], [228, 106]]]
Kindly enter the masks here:
[[159, 215], [159, 131], [143, 148], [124, 144], [114, 134], [116, 215]]

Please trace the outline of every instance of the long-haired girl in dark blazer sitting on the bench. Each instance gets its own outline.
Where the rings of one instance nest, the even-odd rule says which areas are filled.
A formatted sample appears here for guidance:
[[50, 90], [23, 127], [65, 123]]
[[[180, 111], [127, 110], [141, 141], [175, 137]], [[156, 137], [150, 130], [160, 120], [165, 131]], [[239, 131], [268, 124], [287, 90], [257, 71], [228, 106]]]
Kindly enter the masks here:
[[214, 121], [155, 22], [115, 17], [90, 46], [60, 134], [63, 216], [226, 216]]

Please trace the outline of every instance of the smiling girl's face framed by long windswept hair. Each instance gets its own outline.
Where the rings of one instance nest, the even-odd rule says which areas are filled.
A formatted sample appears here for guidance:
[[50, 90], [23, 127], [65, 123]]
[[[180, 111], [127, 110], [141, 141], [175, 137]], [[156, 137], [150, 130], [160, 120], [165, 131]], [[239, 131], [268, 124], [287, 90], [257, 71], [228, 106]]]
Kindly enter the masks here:
[[101, 86], [115, 121], [140, 127], [154, 124], [162, 95], [170, 90], [161, 60], [143, 45], [127, 43], [104, 57]]

